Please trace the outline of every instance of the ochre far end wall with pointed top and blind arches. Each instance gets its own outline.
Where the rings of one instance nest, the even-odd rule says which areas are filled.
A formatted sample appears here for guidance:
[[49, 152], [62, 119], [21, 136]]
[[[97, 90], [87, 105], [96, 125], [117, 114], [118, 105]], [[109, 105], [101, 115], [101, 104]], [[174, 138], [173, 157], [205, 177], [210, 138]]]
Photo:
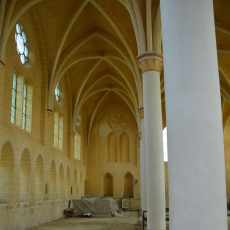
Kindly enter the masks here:
[[[137, 127], [131, 114], [119, 106], [108, 107], [98, 116], [90, 143], [87, 148], [86, 194], [106, 195], [105, 176], [109, 173], [113, 179], [113, 196], [120, 200], [125, 193], [125, 176], [131, 173], [132, 183], [138, 180], [137, 184], [133, 184], [133, 198], [139, 200], [140, 148]], [[126, 158], [122, 158], [124, 154]], [[132, 193], [132, 189], [128, 193]]]

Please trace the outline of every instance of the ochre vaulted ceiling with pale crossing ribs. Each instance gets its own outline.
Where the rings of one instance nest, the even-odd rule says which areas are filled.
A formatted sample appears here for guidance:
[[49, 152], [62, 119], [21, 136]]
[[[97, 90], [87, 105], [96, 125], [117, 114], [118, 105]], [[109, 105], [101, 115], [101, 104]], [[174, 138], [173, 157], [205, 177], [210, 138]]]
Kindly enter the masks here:
[[[84, 108], [89, 124], [93, 115], [118, 104], [138, 123], [143, 101], [136, 60], [141, 54], [140, 41], [147, 43], [148, 33], [153, 45], [146, 52], [161, 52], [159, 45], [154, 45], [156, 34], [153, 36], [160, 33], [160, 29], [156, 31], [159, 5], [159, 0], [8, 0], [1, 1], [5, 14], [0, 26], [8, 17], [8, 30], [12, 30], [23, 14], [30, 15], [43, 44], [47, 107], [52, 108], [54, 89], [64, 77], [70, 82], [74, 118]], [[149, 6], [150, 14], [146, 10]], [[214, 0], [214, 15], [221, 92], [230, 101], [230, 1]], [[146, 29], [150, 27], [152, 31]], [[3, 37], [7, 36], [3, 32], [0, 36], [0, 44], [4, 44]], [[1, 51], [0, 59], [4, 59]], [[164, 111], [163, 71], [161, 83]]]

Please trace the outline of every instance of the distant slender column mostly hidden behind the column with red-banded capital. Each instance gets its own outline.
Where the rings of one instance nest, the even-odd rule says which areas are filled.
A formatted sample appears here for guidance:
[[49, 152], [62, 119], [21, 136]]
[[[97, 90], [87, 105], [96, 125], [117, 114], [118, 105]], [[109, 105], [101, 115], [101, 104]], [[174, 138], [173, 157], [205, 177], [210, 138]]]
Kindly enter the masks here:
[[146, 191], [146, 163], [145, 163], [145, 145], [144, 145], [144, 108], [139, 108], [138, 112], [141, 118], [140, 135], [140, 171], [141, 171], [141, 209], [147, 211], [147, 191]]

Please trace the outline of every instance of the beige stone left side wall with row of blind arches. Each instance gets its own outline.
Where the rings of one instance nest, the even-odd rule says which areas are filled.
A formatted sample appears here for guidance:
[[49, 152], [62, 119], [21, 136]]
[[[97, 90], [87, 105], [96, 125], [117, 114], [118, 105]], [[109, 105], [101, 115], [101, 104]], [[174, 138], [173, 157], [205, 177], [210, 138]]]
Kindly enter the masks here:
[[[54, 111], [63, 116], [63, 149], [54, 147], [54, 114], [46, 111], [47, 82], [35, 28], [25, 14], [20, 22], [30, 42], [30, 60], [20, 63], [14, 31], [6, 46], [6, 66], [0, 69], [0, 229], [28, 229], [63, 217], [70, 198], [84, 195], [85, 166], [73, 158], [71, 100], [68, 79], [60, 81], [62, 103]], [[13, 73], [32, 87], [31, 130], [22, 129], [16, 113], [11, 123]], [[43, 95], [45, 94], [45, 95]], [[20, 98], [17, 98], [20, 99]], [[17, 106], [22, 106], [18, 103]], [[84, 135], [83, 135], [84, 136]], [[72, 194], [71, 194], [72, 187]]]

